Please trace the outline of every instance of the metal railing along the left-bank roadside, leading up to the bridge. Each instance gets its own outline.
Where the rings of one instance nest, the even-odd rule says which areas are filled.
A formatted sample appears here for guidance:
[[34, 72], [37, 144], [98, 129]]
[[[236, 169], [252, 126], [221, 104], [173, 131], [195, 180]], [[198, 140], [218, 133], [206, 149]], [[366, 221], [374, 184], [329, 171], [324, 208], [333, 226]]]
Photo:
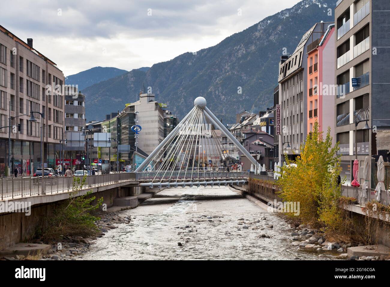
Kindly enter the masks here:
[[[32, 196], [73, 191], [73, 178], [77, 176], [8, 177], [1, 178], [1, 200], [15, 196]], [[135, 173], [112, 173], [87, 176], [82, 189], [135, 180]], [[82, 176], [80, 176], [80, 182]]]

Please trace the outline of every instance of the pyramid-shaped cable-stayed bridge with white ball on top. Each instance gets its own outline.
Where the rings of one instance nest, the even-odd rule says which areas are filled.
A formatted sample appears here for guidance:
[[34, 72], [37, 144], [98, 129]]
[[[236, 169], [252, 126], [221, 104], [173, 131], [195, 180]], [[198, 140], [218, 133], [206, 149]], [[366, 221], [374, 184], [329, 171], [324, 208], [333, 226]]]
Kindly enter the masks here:
[[256, 160], [198, 97], [194, 107], [135, 170], [143, 187], [185, 187], [245, 184], [247, 173], [236, 168], [221, 133], [258, 166]]

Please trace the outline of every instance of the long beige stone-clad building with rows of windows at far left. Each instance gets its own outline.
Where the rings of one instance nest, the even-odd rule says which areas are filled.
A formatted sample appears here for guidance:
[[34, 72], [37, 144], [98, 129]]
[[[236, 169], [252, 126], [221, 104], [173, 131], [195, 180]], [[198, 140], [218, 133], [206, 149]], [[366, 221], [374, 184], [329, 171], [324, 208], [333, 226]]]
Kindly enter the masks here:
[[[20, 175], [32, 175], [39, 167], [41, 115], [36, 112], [44, 114], [44, 166], [55, 167], [64, 125], [63, 84], [64, 74], [35, 49], [33, 39], [26, 43], [0, 26], [0, 175], [9, 165]], [[31, 112], [37, 121], [28, 121]], [[9, 135], [9, 119], [12, 126], [20, 124], [20, 132], [11, 128]]]

